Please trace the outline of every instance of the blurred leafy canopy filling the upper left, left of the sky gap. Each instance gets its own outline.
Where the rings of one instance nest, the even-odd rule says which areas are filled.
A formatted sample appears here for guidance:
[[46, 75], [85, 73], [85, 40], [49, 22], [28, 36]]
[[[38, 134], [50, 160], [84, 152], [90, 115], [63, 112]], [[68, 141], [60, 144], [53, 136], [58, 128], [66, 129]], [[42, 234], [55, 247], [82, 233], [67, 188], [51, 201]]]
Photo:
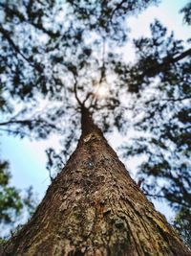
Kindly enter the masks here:
[[[102, 117], [104, 130], [112, 127], [107, 124], [107, 109], [119, 128], [122, 114], [118, 110], [115, 118], [113, 114], [119, 103], [117, 81], [108, 80], [111, 73], [117, 76], [113, 62], [121, 57], [106, 51], [106, 46], [115, 49], [124, 44], [126, 18], [157, 2], [21, 1], [19, 8], [16, 2], [2, 2], [2, 91], [7, 103], [13, 100], [16, 106], [24, 106], [19, 105], [18, 111], [13, 105], [16, 109], [4, 116], [0, 129], [37, 138], [57, 132], [63, 148], [69, 148], [79, 134], [74, 83], [81, 101], [87, 98], [95, 113], [103, 110], [97, 116]], [[107, 83], [110, 96], [98, 101], [95, 92], [100, 83]], [[42, 111], [39, 105], [44, 100], [47, 105]]]

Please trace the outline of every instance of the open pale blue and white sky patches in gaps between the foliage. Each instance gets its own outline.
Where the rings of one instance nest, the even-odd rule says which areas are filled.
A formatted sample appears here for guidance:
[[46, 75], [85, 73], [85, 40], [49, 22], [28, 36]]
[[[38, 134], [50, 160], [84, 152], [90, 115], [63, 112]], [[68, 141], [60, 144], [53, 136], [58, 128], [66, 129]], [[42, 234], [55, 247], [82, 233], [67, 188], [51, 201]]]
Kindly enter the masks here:
[[[149, 24], [155, 18], [159, 19], [169, 31], [174, 31], [178, 38], [188, 38], [191, 33], [188, 27], [182, 22], [180, 9], [187, 3], [183, 0], [164, 0], [159, 7], [148, 8], [138, 17], [128, 19], [129, 27], [133, 28], [130, 37], [139, 37], [149, 35]], [[132, 51], [124, 53], [125, 58], [133, 59]], [[46, 170], [45, 150], [52, 145], [57, 144], [57, 139], [53, 136], [48, 141], [31, 141], [27, 138], [20, 140], [16, 137], [7, 136], [1, 133], [0, 158], [9, 160], [11, 165], [11, 184], [19, 189], [25, 189], [32, 185], [34, 192], [37, 193], [38, 199], [44, 197], [45, 192], [50, 184], [48, 171]], [[116, 148], [118, 138], [108, 137], [109, 143]], [[126, 164], [128, 168], [134, 169], [135, 162]], [[156, 208], [162, 212], [167, 219], [173, 216], [170, 209], [161, 203], [155, 203]]]

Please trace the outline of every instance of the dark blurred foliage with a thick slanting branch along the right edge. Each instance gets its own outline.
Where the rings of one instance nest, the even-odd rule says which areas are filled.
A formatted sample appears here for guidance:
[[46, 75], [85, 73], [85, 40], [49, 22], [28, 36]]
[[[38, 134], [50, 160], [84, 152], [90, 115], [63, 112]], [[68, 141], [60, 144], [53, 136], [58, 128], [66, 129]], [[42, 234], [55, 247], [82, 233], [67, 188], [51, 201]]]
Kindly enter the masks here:
[[191, 50], [184, 51], [158, 20], [151, 37], [134, 43], [138, 62], [130, 72], [138, 76], [127, 82], [140, 94], [134, 116], [142, 115], [134, 123], [140, 135], [123, 147], [124, 155], [147, 156], [138, 171], [147, 196], [165, 198], [176, 209], [190, 207]]

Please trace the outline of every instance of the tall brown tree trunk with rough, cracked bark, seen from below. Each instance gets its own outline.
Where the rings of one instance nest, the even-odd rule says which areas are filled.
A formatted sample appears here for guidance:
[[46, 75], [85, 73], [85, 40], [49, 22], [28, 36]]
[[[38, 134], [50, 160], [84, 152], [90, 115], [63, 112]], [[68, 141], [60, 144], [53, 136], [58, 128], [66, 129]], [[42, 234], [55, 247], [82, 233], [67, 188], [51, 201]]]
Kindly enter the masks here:
[[0, 255], [191, 255], [82, 109], [82, 135], [32, 220]]

